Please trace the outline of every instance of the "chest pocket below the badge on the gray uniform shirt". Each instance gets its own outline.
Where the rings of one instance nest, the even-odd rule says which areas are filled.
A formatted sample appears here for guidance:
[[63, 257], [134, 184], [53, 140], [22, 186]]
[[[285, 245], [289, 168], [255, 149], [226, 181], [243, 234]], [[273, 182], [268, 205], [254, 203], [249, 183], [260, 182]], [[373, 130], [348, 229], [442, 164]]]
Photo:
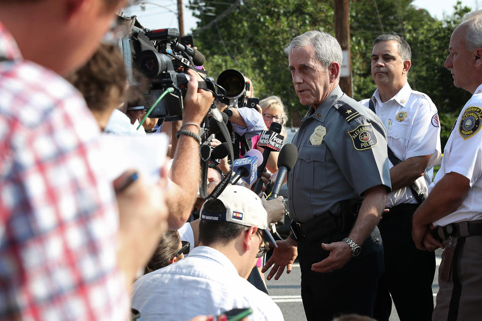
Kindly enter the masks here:
[[316, 191], [326, 186], [326, 145], [303, 145], [298, 151], [297, 186], [303, 191]]

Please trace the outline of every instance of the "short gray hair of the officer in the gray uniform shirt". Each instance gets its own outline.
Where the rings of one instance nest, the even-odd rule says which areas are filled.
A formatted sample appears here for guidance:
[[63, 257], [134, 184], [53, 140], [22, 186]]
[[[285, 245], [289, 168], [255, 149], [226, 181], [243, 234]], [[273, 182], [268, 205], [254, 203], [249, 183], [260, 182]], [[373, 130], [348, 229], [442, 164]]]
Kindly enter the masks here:
[[341, 54], [340, 44], [335, 37], [326, 32], [316, 30], [305, 32], [293, 38], [283, 52], [289, 56], [293, 51], [306, 46], [311, 46], [315, 50], [315, 57], [323, 67], [328, 68], [332, 62], [338, 63], [341, 67], [343, 55]]

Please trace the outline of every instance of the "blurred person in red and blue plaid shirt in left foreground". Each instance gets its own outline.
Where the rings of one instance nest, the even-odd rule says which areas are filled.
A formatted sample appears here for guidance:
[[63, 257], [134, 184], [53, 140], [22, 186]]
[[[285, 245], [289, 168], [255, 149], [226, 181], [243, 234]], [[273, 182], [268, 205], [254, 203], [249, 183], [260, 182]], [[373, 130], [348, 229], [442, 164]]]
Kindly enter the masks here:
[[0, 0], [0, 319], [126, 319], [134, 273], [167, 227], [165, 179], [154, 191], [135, 181], [117, 211], [98, 126], [59, 76], [85, 63], [125, 5]]

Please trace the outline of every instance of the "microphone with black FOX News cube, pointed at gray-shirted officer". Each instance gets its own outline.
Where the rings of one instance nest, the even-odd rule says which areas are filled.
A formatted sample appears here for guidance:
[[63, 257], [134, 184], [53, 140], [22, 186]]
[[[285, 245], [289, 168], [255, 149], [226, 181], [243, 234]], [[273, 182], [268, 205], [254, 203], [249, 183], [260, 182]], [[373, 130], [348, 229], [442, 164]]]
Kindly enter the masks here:
[[258, 167], [258, 181], [256, 182], [253, 192], [256, 194], [261, 193], [261, 188], [263, 187], [263, 182], [261, 181], [261, 176], [265, 170], [266, 163], [268, 163], [268, 157], [271, 151], [280, 151], [283, 145], [283, 135], [280, 135], [281, 124], [277, 122], [272, 122], [269, 130], [263, 130], [261, 132], [260, 139], [258, 140], [258, 146], [263, 147], [263, 163]]

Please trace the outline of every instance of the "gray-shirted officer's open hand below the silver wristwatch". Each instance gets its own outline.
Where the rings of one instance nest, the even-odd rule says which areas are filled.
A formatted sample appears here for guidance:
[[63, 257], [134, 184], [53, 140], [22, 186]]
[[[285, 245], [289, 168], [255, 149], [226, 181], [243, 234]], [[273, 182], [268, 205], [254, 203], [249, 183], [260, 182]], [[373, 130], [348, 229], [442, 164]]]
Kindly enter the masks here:
[[345, 242], [321, 244], [323, 250], [330, 251], [330, 255], [321, 262], [311, 265], [315, 272], [328, 273], [342, 268], [351, 258], [351, 249]]

